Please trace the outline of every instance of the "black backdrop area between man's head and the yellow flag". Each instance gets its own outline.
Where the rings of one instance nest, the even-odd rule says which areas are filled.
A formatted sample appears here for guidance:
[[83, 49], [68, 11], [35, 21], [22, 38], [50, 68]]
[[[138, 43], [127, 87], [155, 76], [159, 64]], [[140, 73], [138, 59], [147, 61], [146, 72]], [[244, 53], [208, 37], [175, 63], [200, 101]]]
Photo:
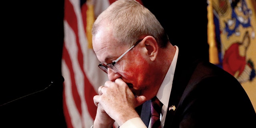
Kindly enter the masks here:
[[173, 45], [209, 60], [206, 0], [142, 0], [166, 30]]

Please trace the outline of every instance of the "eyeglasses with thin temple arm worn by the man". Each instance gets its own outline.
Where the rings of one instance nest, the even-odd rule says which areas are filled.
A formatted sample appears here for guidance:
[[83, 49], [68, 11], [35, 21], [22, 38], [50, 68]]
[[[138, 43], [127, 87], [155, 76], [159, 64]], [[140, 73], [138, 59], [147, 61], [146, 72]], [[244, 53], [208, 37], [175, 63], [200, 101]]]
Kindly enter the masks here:
[[127, 52], [129, 52], [134, 46], [136, 46], [139, 42], [141, 42], [143, 39], [138, 40], [131, 48], [129, 48], [126, 52], [124, 52], [124, 54], [122, 54], [120, 57], [118, 57], [114, 62], [112, 62], [111, 64], [103, 64], [100, 63], [98, 65], [98, 67], [103, 70], [104, 72], [108, 73], [108, 68], [110, 68], [112, 71], [114, 71], [115, 73], [118, 72], [118, 69], [115, 67], [116, 62], [118, 62], [118, 60], [120, 60]]

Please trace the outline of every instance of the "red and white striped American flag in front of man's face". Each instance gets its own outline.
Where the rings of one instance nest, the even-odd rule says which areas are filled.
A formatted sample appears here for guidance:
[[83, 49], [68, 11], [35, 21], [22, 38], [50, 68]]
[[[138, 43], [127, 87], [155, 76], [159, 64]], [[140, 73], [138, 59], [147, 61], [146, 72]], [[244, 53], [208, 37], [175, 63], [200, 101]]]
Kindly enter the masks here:
[[[68, 128], [90, 128], [97, 107], [93, 96], [108, 80], [92, 49], [95, 18], [115, 0], [65, 0], [62, 76], [64, 116]], [[140, 2], [140, 1], [139, 1]]]

